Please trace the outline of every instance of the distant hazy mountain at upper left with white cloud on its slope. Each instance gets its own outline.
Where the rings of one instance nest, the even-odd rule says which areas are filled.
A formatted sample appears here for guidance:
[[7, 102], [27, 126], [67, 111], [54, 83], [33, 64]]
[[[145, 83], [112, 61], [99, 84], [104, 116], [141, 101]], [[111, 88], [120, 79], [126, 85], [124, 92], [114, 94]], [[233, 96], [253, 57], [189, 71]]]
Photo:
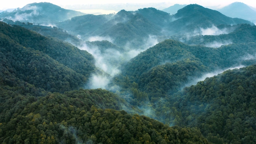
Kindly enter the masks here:
[[74, 16], [84, 15], [85, 13], [74, 10], [63, 9], [52, 3], [31, 3], [12, 12], [1, 12], [0, 18], [7, 18], [13, 21], [32, 22], [36, 24], [55, 24], [60, 21], [73, 18]]

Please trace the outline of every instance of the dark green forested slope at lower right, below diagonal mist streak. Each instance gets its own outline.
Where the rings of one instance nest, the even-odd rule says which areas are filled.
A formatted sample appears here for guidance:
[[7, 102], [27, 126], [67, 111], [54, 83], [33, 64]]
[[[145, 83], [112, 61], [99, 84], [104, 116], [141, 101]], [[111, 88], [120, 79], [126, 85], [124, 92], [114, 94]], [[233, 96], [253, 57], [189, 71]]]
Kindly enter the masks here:
[[252, 65], [207, 78], [170, 96], [169, 106], [182, 112], [182, 125], [200, 128], [211, 142], [253, 144], [255, 72]]

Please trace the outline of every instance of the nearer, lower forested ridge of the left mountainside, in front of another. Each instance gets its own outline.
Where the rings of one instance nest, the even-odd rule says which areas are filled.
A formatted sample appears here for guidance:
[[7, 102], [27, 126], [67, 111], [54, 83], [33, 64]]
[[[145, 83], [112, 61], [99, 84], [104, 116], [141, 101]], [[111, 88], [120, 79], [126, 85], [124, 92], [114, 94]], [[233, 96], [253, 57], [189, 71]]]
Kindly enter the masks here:
[[[25, 48], [13, 42], [9, 37], [0, 34], [1, 59], [9, 72], [25, 82], [52, 92], [64, 92], [78, 89], [85, 85], [86, 77], [58, 63], [45, 53]], [[7, 71], [3, 71], [3, 82], [9, 86], [15, 80], [8, 79]]]

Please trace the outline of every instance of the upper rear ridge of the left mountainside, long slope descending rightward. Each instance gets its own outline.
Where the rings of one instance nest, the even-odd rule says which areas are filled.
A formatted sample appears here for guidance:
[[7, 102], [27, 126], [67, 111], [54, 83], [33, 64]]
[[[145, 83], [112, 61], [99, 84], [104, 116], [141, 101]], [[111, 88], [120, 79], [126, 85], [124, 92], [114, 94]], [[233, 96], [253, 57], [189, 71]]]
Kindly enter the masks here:
[[97, 71], [93, 56], [85, 50], [80, 50], [60, 40], [52, 40], [16, 25], [11, 27], [4, 22], [0, 22], [0, 24], [0, 32], [19, 45], [39, 50], [86, 77]]

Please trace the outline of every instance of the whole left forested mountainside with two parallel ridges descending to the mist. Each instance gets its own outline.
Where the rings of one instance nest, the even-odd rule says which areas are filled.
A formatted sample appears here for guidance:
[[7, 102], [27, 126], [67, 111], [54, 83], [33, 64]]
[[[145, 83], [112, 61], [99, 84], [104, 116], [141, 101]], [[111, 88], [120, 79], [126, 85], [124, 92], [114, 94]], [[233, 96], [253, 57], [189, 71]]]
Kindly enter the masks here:
[[90, 74], [98, 71], [94, 58], [84, 50], [16, 25], [0, 24], [4, 64], [25, 82], [47, 91], [64, 92], [82, 87]]

